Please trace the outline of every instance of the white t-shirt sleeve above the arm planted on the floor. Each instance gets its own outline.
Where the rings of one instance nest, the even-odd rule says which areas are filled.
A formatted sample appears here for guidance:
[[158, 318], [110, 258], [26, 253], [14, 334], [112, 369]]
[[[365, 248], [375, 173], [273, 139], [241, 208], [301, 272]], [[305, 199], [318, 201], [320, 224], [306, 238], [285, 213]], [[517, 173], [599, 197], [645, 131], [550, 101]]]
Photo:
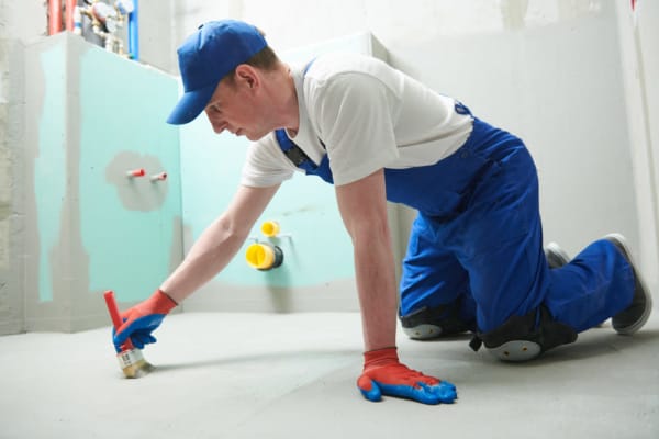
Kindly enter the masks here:
[[348, 72], [319, 88], [314, 109], [335, 185], [362, 179], [399, 157], [394, 99], [377, 78]]

